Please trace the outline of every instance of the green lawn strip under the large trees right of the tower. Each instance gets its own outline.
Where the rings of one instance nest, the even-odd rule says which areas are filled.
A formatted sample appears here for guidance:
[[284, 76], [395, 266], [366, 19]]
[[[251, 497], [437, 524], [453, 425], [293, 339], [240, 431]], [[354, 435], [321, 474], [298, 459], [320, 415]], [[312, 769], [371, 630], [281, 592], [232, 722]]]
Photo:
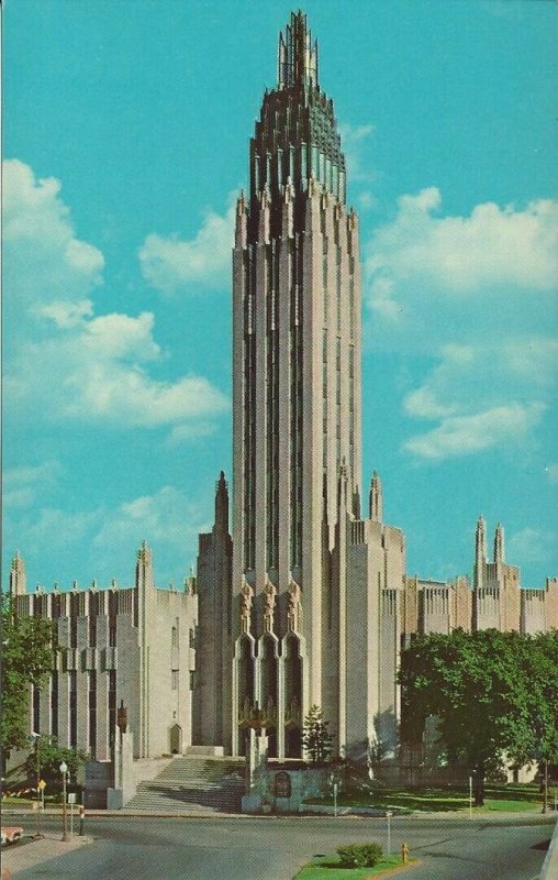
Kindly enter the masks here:
[[[549, 804], [554, 802], [554, 790], [549, 790]], [[327, 804], [333, 806], [333, 796], [314, 798], [309, 800], [309, 804]], [[492, 784], [484, 787], [484, 806], [473, 807], [475, 813], [490, 811], [515, 813], [524, 810], [540, 810], [542, 795], [538, 785], [531, 784]], [[442, 811], [468, 811], [469, 810], [469, 789], [468, 787], [455, 788], [431, 788], [431, 789], [401, 789], [378, 787], [369, 793], [350, 792], [342, 793], [337, 798], [338, 806], [368, 806], [378, 810], [394, 809], [398, 813], [411, 810], [442, 812]]]

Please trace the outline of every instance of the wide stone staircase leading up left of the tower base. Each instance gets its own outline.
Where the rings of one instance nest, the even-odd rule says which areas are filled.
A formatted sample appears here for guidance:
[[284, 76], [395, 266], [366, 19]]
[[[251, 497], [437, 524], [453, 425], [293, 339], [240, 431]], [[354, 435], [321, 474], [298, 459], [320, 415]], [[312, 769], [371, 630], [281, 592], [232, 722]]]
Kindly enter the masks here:
[[243, 759], [179, 757], [155, 779], [140, 782], [125, 811], [146, 813], [239, 813]]

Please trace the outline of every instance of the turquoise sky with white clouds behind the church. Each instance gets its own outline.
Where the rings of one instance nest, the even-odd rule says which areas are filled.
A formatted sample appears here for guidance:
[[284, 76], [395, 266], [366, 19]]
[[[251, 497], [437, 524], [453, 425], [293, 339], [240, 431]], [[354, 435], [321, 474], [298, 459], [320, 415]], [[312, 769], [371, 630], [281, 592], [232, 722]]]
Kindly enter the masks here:
[[[4, 573], [181, 583], [231, 474], [232, 205], [276, 80], [274, 0], [7, 0]], [[558, 574], [557, 14], [308, 0], [360, 216], [365, 492], [408, 571], [478, 516]]]

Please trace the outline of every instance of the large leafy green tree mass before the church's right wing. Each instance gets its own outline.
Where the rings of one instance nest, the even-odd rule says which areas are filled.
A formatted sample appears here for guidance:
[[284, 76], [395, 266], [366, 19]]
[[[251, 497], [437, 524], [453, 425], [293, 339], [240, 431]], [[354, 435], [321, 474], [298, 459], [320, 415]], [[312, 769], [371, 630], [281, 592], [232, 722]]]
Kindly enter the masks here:
[[[503, 759], [551, 760], [558, 725], [556, 632], [522, 636], [488, 629], [420, 636], [401, 654], [402, 738], [418, 741], [427, 716], [439, 719], [448, 758], [483, 780]], [[543, 733], [544, 732], [544, 733]]]

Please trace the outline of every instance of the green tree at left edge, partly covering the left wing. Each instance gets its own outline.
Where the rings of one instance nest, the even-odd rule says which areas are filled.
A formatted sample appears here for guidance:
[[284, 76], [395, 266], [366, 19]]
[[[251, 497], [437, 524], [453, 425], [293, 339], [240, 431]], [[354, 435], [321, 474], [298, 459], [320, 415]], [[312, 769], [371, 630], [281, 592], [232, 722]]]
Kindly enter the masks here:
[[2, 754], [25, 748], [30, 738], [30, 685], [43, 684], [53, 666], [52, 622], [19, 617], [11, 598], [0, 596], [2, 609]]

